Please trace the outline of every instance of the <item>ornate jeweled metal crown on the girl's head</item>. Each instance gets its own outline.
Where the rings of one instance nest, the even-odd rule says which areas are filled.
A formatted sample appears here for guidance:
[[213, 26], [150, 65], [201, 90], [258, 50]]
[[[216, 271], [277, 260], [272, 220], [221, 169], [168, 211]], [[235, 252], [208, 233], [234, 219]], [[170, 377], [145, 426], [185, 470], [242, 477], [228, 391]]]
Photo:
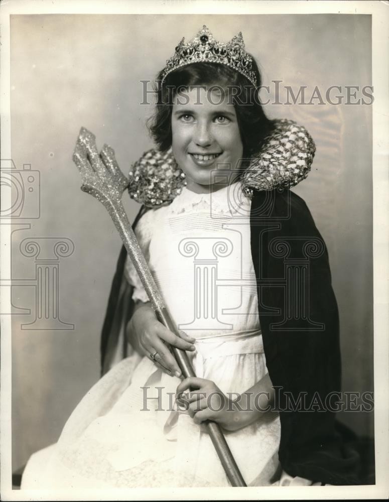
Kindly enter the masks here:
[[212, 33], [204, 25], [197, 35], [187, 44], [185, 38], [176, 47], [174, 55], [166, 61], [162, 73], [162, 82], [177, 68], [193, 63], [219, 63], [229, 66], [245, 76], [254, 87], [257, 86], [255, 72], [252, 69], [252, 57], [244, 50], [241, 32], [230, 42], [217, 42]]

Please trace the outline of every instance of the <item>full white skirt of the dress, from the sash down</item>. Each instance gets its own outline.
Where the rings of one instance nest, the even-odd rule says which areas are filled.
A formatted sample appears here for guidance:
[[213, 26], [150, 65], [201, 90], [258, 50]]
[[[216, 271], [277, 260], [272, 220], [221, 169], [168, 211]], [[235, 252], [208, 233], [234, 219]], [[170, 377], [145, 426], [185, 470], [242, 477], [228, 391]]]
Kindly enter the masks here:
[[[198, 339], [197, 376], [243, 393], [267, 373], [262, 336]], [[180, 380], [134, 355], [116, 364], [81, 400], [58, 442], [30, 458], [22, 489], [230, 486], [204, 426], [179, 411]], [[280, 418], [266, 412], [226, 441], [248, 486], [311, 485], [282, 472]], [[249, 454], [247, 454], [249, 452]]]

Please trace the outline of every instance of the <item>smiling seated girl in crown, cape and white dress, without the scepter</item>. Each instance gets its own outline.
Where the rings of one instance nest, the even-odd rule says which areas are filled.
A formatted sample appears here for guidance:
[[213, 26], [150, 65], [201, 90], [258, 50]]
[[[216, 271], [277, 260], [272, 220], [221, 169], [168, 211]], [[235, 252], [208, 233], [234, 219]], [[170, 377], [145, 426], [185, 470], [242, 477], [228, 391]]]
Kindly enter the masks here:
[[[247, 485], [357, 483], [334, 413], [320, 408], [340, 379], [327, 251], [288, 189], [307, 176], [314, 145], [304, 128], [266, 117], [260, 85], [241, 35], [222, 44], [206, 27], [160, 72], [159, 148], [133, 166], [129, 192], [181, 337], [157, 320], [123, 248], [105, 374], [58, 443], [30, 459], [22, 488], [228, 486], [208, 419]], [[196, 378], [181, 378], [172, 345]]]

